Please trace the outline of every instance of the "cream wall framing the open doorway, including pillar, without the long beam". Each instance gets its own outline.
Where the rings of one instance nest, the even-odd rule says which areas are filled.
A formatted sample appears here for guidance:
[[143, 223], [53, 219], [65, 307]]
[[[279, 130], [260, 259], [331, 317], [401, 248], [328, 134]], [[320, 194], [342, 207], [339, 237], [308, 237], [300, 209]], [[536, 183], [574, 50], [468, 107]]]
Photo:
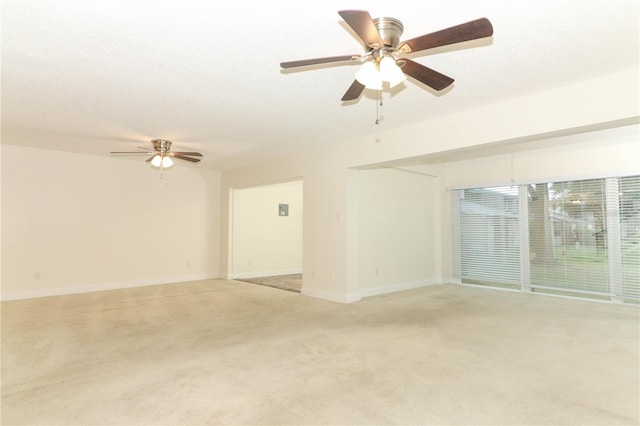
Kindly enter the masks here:
[[[302, 294], [339, 302], [358, 300], [347, 294], [346, 200], [348, 169], [331, 151], [303, 152], [294, 156], [222, 173], [221, 193], [251, 185], [264, 185], [291, 179], [304, 181], [303, 212], [303, 286]], [[221, 199], [221, 220], [226, 216], [229, 199]], [[221, 267], [231, 268], [227, 246], [231, 236], [228, 226], [221, 229]]]

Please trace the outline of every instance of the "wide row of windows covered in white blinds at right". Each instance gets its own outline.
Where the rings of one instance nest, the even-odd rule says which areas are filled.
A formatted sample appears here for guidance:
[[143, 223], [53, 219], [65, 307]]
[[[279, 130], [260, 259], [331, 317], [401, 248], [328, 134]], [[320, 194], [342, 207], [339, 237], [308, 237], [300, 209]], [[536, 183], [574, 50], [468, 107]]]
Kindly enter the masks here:
[[452, 195], [462, 282], [638, 303], [640, 176]]

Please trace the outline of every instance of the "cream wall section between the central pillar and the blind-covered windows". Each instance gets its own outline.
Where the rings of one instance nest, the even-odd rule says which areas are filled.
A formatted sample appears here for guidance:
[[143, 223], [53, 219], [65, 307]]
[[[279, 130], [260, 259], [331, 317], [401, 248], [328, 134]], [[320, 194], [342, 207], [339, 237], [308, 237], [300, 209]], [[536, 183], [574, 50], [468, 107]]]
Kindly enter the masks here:
[[439, 179], [391, 168], [361, 170], [357, 179], [360, 295], [439, 282]]

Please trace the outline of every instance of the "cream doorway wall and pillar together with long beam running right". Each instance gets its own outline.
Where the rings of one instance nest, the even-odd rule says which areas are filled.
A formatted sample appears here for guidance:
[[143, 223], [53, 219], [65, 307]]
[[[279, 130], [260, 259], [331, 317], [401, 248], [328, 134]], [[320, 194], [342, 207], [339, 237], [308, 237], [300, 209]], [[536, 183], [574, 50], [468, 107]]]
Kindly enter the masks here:
[[[357, 216], [353, 213], [357, 206], [354, 201], [357, 199], [354, 180], [357, 179], [353, 177], [352, 168], [637, 123], [640, 117], [638, 71], [632, 69], [580, 81], [405, 128], [381, 127], [375, 136], [332, 141], [316, 151], [224, 171], [221, 191], [225, 194], [229, 188], [302, 177], [305, 183], [303, 294], [340, 302], [359, 300], [359, 253], [355, 252], [358, 243], [352, 223]], [[617, 168], [617, 165], [607, 167]], [[229, 201], [225, 198], [221, 199], [223, 224], [229, 221]], [[446, 210], [441, 211], [442, 219], [437, 219], [437, 223], [448, 233]], [[222, 268], [229, 267], [230, 256], [225, 226], [221, 231]], [[446, 259], [442, 263], [446, 267]]]

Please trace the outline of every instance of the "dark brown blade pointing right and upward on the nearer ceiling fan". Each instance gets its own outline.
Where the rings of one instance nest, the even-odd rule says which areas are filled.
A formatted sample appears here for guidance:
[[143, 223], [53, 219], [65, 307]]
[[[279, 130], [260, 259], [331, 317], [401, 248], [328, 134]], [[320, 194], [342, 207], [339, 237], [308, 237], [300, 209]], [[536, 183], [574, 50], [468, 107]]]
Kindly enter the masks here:
[[425, 49], [461, 43], [463, 41], [475, 40], [491, 35], [493, 35], [491, 22], [489, 22], [487, 18], [480, 18], [475, 21], [456, 25], [455, 27], [436, 31], [435, 33], [403, 41], [400, 43], [399, 49], [405, 53], [419, 52]]

